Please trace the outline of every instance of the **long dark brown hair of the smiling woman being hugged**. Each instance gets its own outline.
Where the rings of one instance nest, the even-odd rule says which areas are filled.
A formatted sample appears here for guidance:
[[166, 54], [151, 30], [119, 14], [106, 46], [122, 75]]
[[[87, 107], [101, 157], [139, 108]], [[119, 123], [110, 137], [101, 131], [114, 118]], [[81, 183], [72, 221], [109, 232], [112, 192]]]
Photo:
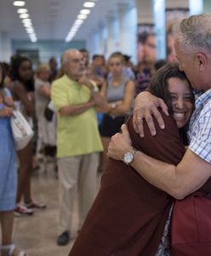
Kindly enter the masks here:
[[[155, 73], [151, 78], [151, 84], [148, 87], [148, 90], [153, 95], [163, 99], [163, 101], [168, 106], [169, 113], [173, 112], [171, 96], [168, 91], [168, 79], [171, 79], [171, 78], [187, 80], [187, 82], [190, 84], [185, 73], [180, 71], [179, 64], [176, 62], [169, 62], [157, 70], [157, 73]], [[195, 104], [195, 97], [194, 97], [194, 94], [192, 93], [192, 90], [191, 90], [191, 102], [193, 103], [193, 105]], [[186, 124], [185, 127], [180, 128], [179, 130], [180, 137], [185, 145], [188, 144], [188, 140], [186, 137], [187, 128], [188, 128], [188, 124]]]

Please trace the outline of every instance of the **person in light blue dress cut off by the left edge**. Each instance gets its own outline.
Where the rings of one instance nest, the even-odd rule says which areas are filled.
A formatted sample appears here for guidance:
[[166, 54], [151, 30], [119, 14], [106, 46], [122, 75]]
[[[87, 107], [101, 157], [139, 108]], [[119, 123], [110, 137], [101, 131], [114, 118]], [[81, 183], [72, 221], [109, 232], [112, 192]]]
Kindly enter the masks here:
[[14, 228], [14, 208], [17, 193], [17, 163], [14, 150], [14, 138], [10, 125], [10, 117], [14, 109], [14, 102], [8, 89], [3, 86], [3, 68], [0, 64], [0, 224], [2, 229], [2, 243], [0, 255], [21, 255], [12, 242]]

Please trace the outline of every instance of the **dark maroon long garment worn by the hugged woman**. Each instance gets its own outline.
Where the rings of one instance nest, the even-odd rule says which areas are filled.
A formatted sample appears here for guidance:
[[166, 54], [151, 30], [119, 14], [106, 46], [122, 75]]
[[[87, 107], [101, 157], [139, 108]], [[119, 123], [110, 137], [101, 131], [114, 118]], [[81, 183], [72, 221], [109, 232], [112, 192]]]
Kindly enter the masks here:
[[[166, 125], [152, 137], [145, 124], [145, 137], [128, 131], [134, 148], [157, 160], [177, 165], [185, 149], [174, 119], [163, 113]], [[163, 236], [173, 198], [146, 182], [131, 166], [109, 160], [100, 191], [88, 212], [69, 256], [154, 256]]]

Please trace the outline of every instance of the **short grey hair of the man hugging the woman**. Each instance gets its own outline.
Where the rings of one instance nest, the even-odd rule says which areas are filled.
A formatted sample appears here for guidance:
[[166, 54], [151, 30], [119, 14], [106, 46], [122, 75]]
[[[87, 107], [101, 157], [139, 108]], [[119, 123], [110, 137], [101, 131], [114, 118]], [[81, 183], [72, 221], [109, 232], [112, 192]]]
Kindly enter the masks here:
[[185, 49], [205, 49], [211, 54], [211, 14], [192, 15], [180, 21], [177, 37]]

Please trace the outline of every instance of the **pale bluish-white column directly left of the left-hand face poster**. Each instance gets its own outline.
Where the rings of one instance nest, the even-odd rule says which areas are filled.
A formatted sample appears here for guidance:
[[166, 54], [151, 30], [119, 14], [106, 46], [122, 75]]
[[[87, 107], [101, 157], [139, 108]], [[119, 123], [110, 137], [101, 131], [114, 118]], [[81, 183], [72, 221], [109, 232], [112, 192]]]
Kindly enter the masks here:
[[123, 54], [131, 55], [136, 61], [136, 8], [128, 8], [127, 4], [119, 5], [119, 50]]

